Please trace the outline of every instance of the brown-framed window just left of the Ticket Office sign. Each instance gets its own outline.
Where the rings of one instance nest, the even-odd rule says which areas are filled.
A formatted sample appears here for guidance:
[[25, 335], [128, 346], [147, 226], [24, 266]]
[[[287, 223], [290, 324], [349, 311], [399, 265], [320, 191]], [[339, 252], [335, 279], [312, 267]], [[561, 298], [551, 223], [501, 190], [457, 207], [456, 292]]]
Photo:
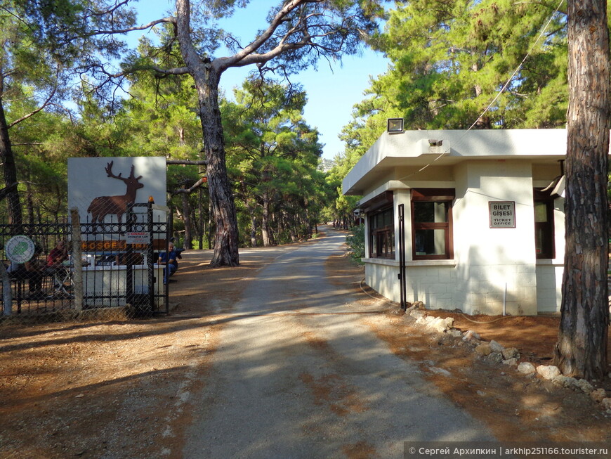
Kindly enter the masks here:
[[412, 190], [412, 256], [414, 260], [452, 259], [453, 188]]

